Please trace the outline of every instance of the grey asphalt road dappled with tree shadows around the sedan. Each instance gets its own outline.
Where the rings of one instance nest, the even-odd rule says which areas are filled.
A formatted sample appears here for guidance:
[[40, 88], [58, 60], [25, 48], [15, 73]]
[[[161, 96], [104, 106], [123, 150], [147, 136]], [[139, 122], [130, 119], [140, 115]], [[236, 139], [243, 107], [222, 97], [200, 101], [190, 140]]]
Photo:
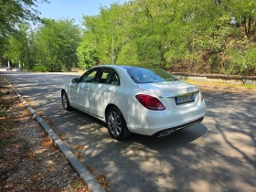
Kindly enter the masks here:
[[65, 112], [61, 85], [71, 73], [2, 71], [37, 112], [54, 122], [81, 162], [111, 183], [112, 192], [256, 191], [256, 94], [205, 91], [205, 120], [163, 138], [134, 134], [113, 140], [104, 123]]

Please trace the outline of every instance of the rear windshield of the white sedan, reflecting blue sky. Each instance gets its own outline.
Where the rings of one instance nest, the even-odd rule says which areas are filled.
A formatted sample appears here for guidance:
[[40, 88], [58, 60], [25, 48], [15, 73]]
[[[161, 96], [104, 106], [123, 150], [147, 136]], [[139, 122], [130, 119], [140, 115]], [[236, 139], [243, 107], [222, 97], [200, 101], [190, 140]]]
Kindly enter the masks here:
[[176, 77], [166, 72], [163, 69], [152, 68], [129, 68], [128, 74], [136, 83], [152, 83], [177, 80]]

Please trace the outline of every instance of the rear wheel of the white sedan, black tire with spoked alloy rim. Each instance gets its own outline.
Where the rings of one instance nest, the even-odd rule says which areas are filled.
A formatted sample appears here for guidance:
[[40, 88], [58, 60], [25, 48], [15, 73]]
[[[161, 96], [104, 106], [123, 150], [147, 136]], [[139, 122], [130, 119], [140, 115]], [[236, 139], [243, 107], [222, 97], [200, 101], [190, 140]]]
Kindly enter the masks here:
[[122, 141], [131, 136], [126, 126], [122, 112], [117, 107], [111, 107], [106, 116], [107, 127], [113, 139]]

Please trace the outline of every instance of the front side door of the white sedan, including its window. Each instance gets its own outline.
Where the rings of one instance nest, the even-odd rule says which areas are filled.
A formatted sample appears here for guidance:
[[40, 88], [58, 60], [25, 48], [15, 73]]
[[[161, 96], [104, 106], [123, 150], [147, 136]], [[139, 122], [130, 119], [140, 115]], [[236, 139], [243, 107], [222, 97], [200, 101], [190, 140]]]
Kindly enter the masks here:
[[98, 71], [98, 68], [90, 69], [80, 77], [79, 83], [77, 85], [76, 106], [83, 111], [90, 112], [89, 101], [91, 97], [91, 83], [94, 82]]

